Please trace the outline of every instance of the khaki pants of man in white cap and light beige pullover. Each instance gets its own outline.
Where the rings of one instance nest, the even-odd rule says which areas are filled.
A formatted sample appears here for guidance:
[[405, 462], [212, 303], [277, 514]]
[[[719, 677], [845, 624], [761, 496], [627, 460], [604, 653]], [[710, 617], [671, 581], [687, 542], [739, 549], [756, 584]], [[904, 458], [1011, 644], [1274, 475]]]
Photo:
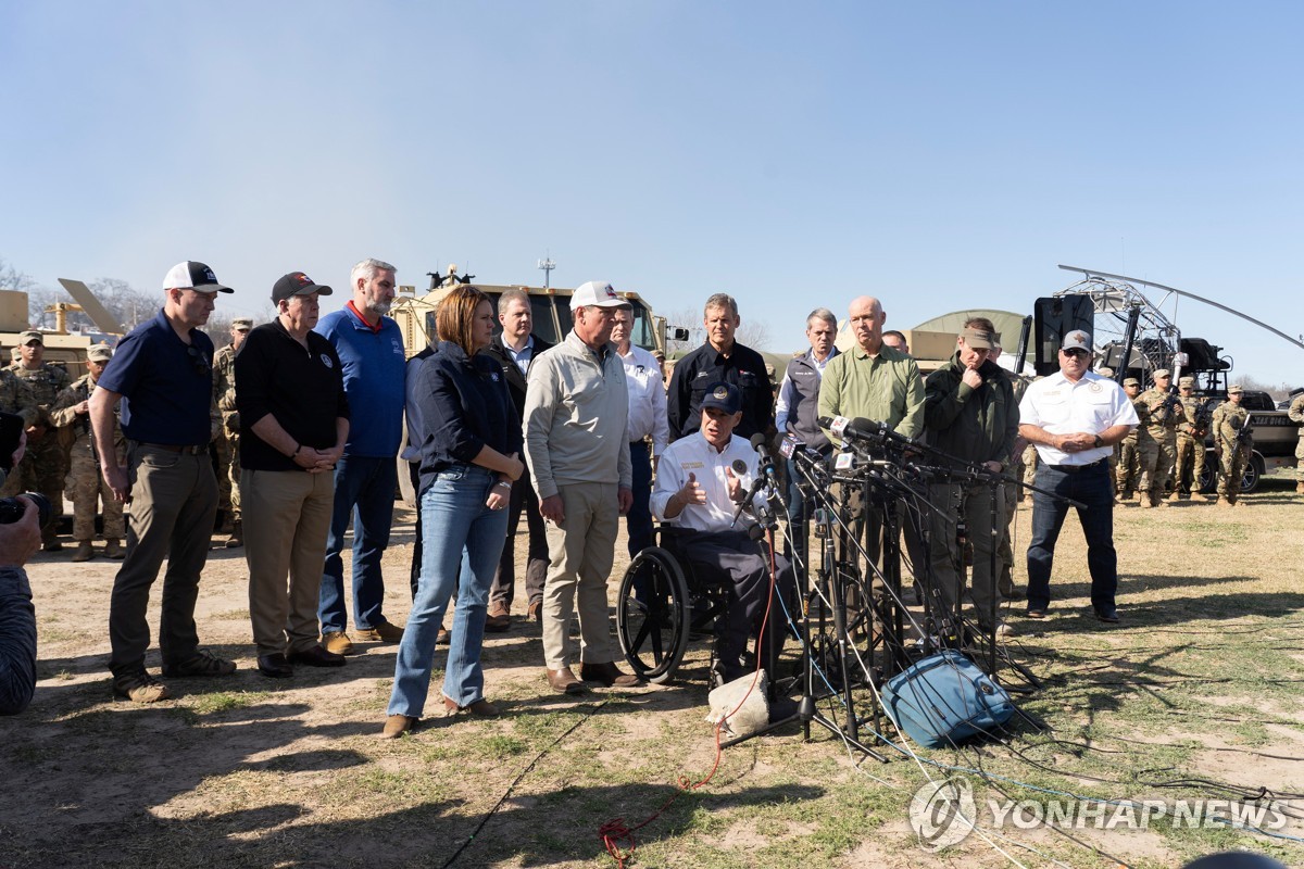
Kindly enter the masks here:
[[549, 670], [575, 662], [571, 615], [579, 611], [584, 663], [615, 659], [606, 608], [606, 580], [619, 529], [615, 483], [567, 483], [558, 495], [566, 513], [561, 526], [548, 524], [548, 578], [544, 582], [544, 661]]

